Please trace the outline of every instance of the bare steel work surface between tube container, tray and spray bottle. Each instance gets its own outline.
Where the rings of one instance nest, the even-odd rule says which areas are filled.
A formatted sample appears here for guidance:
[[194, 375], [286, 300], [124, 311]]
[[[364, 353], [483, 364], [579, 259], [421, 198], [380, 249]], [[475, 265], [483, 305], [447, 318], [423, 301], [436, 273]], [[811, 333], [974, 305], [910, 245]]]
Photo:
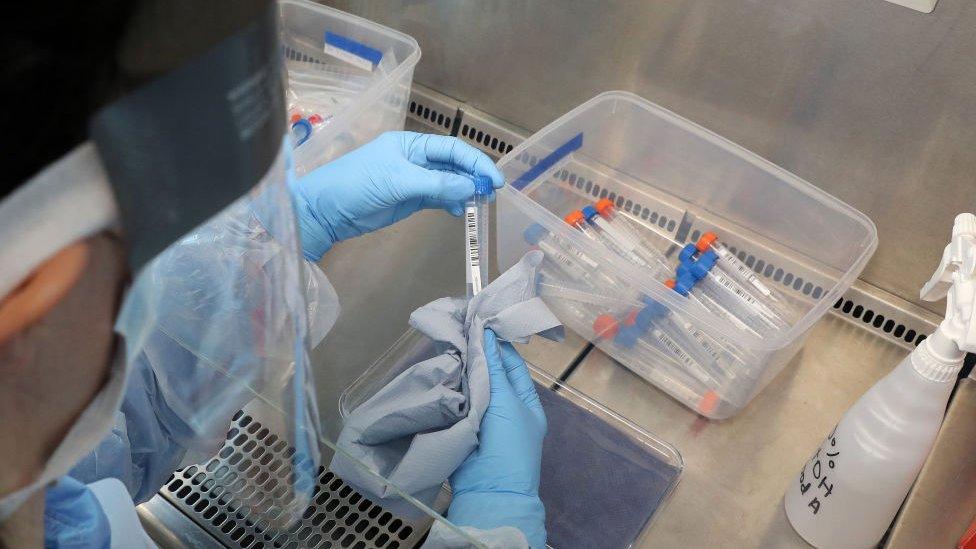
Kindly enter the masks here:
[[568, 384], [673, 444], [685, 462], [642, 547], [806, 547], [782, 498], [843, 412], [907, 351], [836, 316], [740, 414], [710, 421], [599, 350]]

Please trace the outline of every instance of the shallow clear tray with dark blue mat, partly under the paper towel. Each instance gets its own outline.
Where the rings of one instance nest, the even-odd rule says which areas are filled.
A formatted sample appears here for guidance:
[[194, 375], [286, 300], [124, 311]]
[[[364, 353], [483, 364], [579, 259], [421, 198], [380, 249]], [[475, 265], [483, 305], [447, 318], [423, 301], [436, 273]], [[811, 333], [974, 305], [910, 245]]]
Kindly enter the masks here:
[[[340, 414], [347, 417], [404, 370], [436, 353], [430, 339], [416, 330], [408, 330], [343, 391], [339, 398]], [[554, 549], [570, 546], [625, 549], [634, 546], [647, 534], [652, 519], [674, 491], [684, 467], [681, 455], [670, 444], [585, 394], [531, 364], [529, 369], [549, 421], [540, 486], [549, 529], [547, 545]], [[560, 411], [557, 407], [561, 407]], [[557, 435], [560, 432], [563, 433], [561, 438]], [[552, 446], [553, 437], [571, 441], [571, 444], [599, 446], [604, 452], [603, 458], [616, 463], [576, 459], [579, 454], [572, 448]], [[595, 471], [595, 467], [604, 467], [604, 470]], [[637, 473], [632, 474], [630, 468]], [[625, 470], [628, 472], [621, 473]], [[635, 486], [647, 482], [648, 475], [655, 479], [647, 484], [651, 489], [640, 490], [636, 497], [631, 494], [628, 500], [627, 495], [594, 481], [603, 474]], [[577, 489], [587, 493], [579, 493]], [[438, 500], [447, 501], [449, 494], [450, 487], [445, 484]], [[601, 520], [601, 516], [609, 518]], [[600, 543], [581, 543], [581, 540], [594, 538], [600, 539]], [[572, 541], [567, 543], [567, 540]]]

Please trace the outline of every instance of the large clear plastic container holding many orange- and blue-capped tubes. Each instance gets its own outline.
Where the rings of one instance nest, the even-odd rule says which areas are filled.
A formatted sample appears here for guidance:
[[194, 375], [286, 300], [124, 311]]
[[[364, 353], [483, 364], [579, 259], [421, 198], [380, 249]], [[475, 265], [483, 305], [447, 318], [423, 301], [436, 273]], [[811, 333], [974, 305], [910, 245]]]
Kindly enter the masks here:
[[[592, 294], [609, 294], [611, 302], [632, 302], [637, 295], [668, 308], [709, 354], [721, 357], [726, 375], [718, 376], [717, 385], [681, 383], [688, 376], [679, 374], [687, 368], [677, 354], [635, 345], [633, 329], [629, 339], [609, 337], [618, 331], [597, 321], [599, 308], [543, 292], [567, 326], [710, 418], [738, 412], [783, 369], [877, 246], [874, 224], [861, 212], [626, 92], [607, 92], [574, 109], [512, 150], [499, 168], [510, 183], [496, 201], [499, 270], [531, 248], [545, 252], [539, 242], [550, 239], [563, 253], [553, 258], [547, 284], [577, 291], [590, 285]], [[642, 269], [564, 222], [567, 214], [600, 199], [613, 201], [617, 215], [645, 242], [659, 243], [672, 268], [682, 246], [698, 243], [708, 232], [718, 235], [718, 242], [784, 302], [778, 305], [790, 313], [785, 325], [768, 331], [737, 325], [704, 307], [697, 291], [680, 295], [665, 286], [660, 272]], [[591, 276], [569, 277], [567, 269], [555, 268], [578, 255], [590, 261], [577, 262], [574, 269]], [[618, 283], [593, 282], [598, 280]], [[618, 320], [619, 333], [627, 333], [623, 328], [633, 321], [623, 315]], [[653, 330], [645, 326], [644, 331]]]

